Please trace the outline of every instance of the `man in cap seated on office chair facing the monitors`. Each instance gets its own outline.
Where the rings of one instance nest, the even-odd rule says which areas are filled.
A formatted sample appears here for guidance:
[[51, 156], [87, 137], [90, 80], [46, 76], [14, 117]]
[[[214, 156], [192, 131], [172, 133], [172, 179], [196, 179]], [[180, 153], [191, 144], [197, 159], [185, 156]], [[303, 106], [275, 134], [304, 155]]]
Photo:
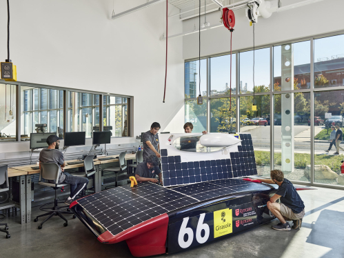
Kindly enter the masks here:
[[47, 138], [48, 148], [41, 150], [41, 153], [39, 154], [39, 168], [41, 168], [41, 163], [57, 163], [57, 165], [61, 168], [59, 181], [57, 183], [70, 184], [70, 196], [65, 199], [65, 204], [70, 205], [74, 201], [74, 198], [79, 195], [81, 190], [83, 190], [83, 188], [87, 186], [88, 178], [75, 177], [68, 174], [67, 172], [64, 172], [65, 160], [63, 158], [62, 152], [59, 151], [59, 139], [60, 138], [56, 135], [50, 135]]

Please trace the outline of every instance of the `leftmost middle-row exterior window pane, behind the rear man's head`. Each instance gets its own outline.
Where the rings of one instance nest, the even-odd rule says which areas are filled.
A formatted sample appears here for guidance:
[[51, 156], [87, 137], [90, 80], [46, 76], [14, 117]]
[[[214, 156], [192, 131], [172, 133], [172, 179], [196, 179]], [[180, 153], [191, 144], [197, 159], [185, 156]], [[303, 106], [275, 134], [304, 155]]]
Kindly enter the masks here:
[[207, 101], [197, 105], [196, 100], [185, 101], [185, 123], [191, 122], [194, 126], [192, 132], [203, 132], [207, 130]]

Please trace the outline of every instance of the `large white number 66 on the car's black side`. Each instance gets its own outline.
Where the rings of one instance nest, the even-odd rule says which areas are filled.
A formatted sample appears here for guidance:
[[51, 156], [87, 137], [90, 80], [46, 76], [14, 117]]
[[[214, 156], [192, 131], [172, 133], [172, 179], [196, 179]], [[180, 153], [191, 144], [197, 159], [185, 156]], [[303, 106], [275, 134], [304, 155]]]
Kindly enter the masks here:
[[[205, 213], [202, 213], [199, 216], [199, 223], [197, 224], [196, 228], [196, 240], [199, 242], [199, 244], [204, 244], [210, 235], [210, 228], [208, 224], [203, 224], [205, 217]], [[188, 248], [191, 246], [192, 241], [194, 239], [194, 232], [192, 231], [192, 228], [187, 228], [189, 218], [184, 218], [183, 223], [181, 224], [181, 229], [179, 230], [178, 235], [178, 244], [181, 246], [181, 248]], [[201, 232], [204, 230], [204, 237], [201, 236]], [[184, 241], [184, 236], [188, 235], [188, 241]]]

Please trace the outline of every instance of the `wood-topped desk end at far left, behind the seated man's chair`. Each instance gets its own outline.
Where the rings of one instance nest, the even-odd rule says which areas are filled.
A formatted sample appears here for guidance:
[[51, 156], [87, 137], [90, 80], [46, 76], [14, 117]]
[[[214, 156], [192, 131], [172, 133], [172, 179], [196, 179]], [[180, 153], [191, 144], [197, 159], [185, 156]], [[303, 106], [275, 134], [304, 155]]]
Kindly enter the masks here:
[[[14, 168], [8, 168], [8, 178], [10, 177], [19, 177], [19, 195], [20, 200], [19, 204], [14, 203], [13, 201], [10, 204], [7, 204], [10, 207], [18, 207], [20, 209], [21, 224], [26, 224], [26, 176], [28, 173], [26, 171], [17, 170]], [[31, 188], [30, 188], [31, 192]], [[10, 208], [8, 207], [8, 208]]]

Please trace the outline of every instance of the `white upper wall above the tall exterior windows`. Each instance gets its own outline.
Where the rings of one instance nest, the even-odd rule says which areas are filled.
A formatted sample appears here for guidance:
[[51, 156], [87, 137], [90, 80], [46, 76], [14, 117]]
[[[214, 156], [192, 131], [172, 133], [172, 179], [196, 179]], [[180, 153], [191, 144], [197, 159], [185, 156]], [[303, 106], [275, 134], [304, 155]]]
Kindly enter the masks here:
[[[283, 0], [283, 6], [303, 0]], [[259, 17], [255, 25], [255, 45], [262, 46], [302, 37], [344, 30], [343, 0], [324, 0], [308, 6], [274, 12], [268, 19]], [[236, 10], [235, 26], [232, 38], [232, 50], [252, 48], [253, 37], [245, 10]], [[201, 19], [203, 23], [204, 18]], [[207, 21], [214, 26], [219, 24], [220, 12], [207, 15]], [[196, 21], [197, 27], [198, 21]], [[183, 22], [183, 32], [192, 31], [194, 19]], [[198, 28], [198, 27], [197, 27]], [[199, 34], [190, 34], [183, 37], [183, 57], [192, 59], [199, 56]], [[230, 51], [230, 32], [224, 27], [214, 28], [201, 32], [201, 56], [219, 54]]]

